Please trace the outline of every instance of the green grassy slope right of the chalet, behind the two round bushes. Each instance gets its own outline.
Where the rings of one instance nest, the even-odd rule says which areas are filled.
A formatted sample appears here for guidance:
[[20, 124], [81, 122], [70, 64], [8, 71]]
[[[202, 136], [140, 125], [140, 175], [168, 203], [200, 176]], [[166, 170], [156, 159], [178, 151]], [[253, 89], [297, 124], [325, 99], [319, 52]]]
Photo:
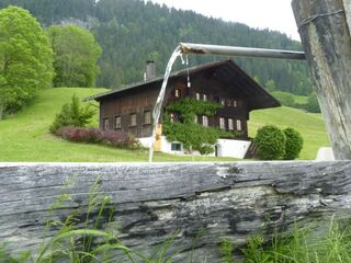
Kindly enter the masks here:
[[256, 136], [258, 128], [273, 124], [281, 128], [293, 127], [304, 137], [304, 148], [299, 159], [313, 160], [322, 146], [329, 146], [325, 124], [320, 114], [305, 113], [292, 107], [254, 111], [250, 115], [249, 133]]

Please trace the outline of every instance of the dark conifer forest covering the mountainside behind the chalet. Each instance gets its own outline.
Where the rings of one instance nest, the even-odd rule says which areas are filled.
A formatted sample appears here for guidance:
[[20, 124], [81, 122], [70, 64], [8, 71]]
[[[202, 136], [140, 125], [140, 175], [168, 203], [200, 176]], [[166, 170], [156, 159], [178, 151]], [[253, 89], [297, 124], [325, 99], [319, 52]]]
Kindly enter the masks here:
[[[145, 61], [156, 61], [162, 73], [180, 42], [301, 50], [299, 42], [270, 30], [206, 18], [140, 0], [2, 0], [29, 10], [45, 27], [78, 24], [90, 30], [102, 47], [97, 87], [121, 88], [143, 79]], [[235, 18], [234, 18], [235, 20]], [[190, 65], [224, 59], [190, 56]], [[247, 72], [270, 89], [308, 95], [313, 91], [306, 64], [257, 58], [235, 58]], [[179, 64], [176, 69], [182, 69]], [[273, 80], [273, 82], [272, 82]], [[273, 84], [273, 87], [272, 87]]]

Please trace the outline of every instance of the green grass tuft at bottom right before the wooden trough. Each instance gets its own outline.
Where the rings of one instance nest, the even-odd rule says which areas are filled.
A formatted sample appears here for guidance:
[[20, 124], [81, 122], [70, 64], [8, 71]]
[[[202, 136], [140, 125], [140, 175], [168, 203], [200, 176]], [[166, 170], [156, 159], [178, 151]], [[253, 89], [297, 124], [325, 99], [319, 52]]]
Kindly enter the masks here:
[[246, 263], [350, 263], [351, 227], [335, 220], [329, 227], [296, 225], [286, 237], [252, 238], [242, 252]]

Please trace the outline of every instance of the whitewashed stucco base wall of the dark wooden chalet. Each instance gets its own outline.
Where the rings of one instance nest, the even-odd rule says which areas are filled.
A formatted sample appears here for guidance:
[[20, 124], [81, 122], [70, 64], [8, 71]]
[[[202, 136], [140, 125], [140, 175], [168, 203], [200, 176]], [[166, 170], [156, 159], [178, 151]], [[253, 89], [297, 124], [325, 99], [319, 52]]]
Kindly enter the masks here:
[[[139, 138], [138, 140], [144, 147], [150, 146], [150, 137], [147, 138]], [[171, 155], [190, 155], [190, 152], [185, 151], [183, 145], [177, 141], [168, 141], [166, 136], [161, 136], [161, 151]], [[172, 150], [172, 144], [180, 144], [181, 150], [176, 151]], [[248, 140], [235, 140], [235, 139], [218, 139], [216, 144], [216, 151], [210, 156], [217, 156], [217, 157], [233, 157], [238, 159], [244, 159], [246, 152], [248, 151], [251, 141]], [[192, 155], [200, 155], [197, 151], [193, 151]]]

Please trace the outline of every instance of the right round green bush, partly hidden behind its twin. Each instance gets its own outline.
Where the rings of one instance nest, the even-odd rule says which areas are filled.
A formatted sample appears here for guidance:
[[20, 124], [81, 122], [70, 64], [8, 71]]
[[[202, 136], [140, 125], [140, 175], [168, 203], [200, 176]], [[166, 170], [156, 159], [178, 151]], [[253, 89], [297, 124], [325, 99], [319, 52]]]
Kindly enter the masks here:
[[285, 142], [285, 160], [294, 160], [299, 156], [304, 146], [304, 139], [301, 134], [293, 128], [286, 128], [283, 130], [286, 137]]

